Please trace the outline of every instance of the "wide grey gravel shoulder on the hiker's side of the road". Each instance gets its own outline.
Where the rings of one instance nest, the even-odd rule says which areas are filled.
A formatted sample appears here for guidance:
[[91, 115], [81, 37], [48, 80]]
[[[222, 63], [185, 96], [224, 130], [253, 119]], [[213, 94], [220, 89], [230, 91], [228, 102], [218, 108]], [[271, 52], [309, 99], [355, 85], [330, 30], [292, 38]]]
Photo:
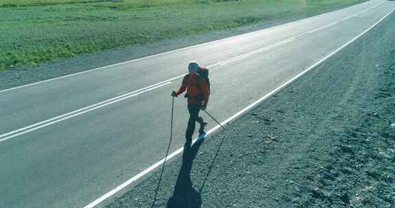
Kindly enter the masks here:
[[[167, 164], [153, 207], [395, 207], [395, 14]], [[152, 207], [160, 169], [106, 207]]]

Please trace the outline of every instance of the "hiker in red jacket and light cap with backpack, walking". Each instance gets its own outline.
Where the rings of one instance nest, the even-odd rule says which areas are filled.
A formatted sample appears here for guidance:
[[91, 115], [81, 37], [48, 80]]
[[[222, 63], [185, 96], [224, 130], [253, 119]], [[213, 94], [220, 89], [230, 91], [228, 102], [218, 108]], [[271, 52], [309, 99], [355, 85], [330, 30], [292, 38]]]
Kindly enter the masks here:
[[[188, 72], [188, 75], [185, 75], [184, 79], [182, 79], [182, 85], [178, 92], [171, 92], [171, 96], [178, 96], [187, 90], [184, 97], [188, 99], [189, 120], [187, 132], [185, 133], [185, 138], [187, 139], [185, 144], [187, 147], [190, 147], [192, 135], [195, 131], [195, 122], [199, 122], [200, 124], [199, 133], [202, 133], [204, 127], [207, 125], [207, 122], [204, 122], [203, 118], [199, 116], [199, 112], [200, 109], [206, 109], [210, 91], [207, 84], [209, 81], [207, 77], [208, 70], [206, 68], [199, 66], [197, 62], [190, 62], [188, 64]], [[201, 74], [205, 75], [205, 77]]]

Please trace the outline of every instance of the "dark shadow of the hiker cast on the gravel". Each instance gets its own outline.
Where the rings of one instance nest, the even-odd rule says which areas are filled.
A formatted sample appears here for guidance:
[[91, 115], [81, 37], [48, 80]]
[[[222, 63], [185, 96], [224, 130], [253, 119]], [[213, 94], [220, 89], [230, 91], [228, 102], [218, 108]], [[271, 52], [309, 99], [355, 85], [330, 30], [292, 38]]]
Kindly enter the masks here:
[[167, 200], [167, 208], [199, 208], [202, 207], [202, 196], [197, 192], [191, 181], [191, 168], [193, 159], [199, 151], [203, 141], [197, 141], [191, 148], [185, 148], [182, 154], [182, 166], [176, 186], [174, 187], [173, 196]]

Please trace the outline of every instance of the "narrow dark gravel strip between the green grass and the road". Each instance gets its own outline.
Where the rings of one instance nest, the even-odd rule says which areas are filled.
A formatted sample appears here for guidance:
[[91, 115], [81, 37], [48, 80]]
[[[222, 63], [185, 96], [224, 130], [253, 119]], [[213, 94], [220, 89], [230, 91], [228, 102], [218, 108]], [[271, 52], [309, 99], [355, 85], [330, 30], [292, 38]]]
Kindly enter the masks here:
[[[365, 0], [361, 0], [365, 1]], [[361, 1], [357, 3], [361, 3]], [[57, 60], [48, 62], [38, 66], [25, 66], [22, 68], [14, 68], [12, 70], [0, 70], [0, 90], [22, 86], [28, 83], [52, 79], [64, 75], [78, 73], [92, 68], [117, 64], [128, 60], [134, 60], [139, 57], [189, 47], [191, 45], [200, 44], [212, 40], [218, 40], [244, 34], [249, 31], [255, 31], [267, 27], [273, 27], [291, 21], [297, 21], [309, 16], [315, 16], [324, 12], [339, 10], [356, 3], [333, 6], [318, 12], [306, 12], [297, 16], [278, 17], [271, 21], [238, 27], [235, 29], [224, 29], [220, 31], [212, 31], [208, 34], [200, 34], [196, 36], [187, 36], [184, 38], [175, 38], [171, 40], [163, 40], [152, 44], [136, 45], [133, 47], [125, 47], [123, 49], [103, 51], [101, 53], [93, 53], [90, 55], [79, 55], [66, 60]]]

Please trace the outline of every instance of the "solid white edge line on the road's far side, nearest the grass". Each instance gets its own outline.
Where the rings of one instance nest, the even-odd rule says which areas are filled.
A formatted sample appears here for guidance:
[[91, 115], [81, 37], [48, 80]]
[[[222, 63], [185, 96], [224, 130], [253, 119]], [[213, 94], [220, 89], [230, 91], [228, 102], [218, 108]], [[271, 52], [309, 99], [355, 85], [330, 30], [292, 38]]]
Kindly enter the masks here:
[[[367, 3], [367, 2], [366, 2], [366, 3]], [[362, 3], [362, 4], [364, 4], [364, 3]], [[359, 4], [359, 5], [361, 5], [361, 4]], [[355, 6], [357, 6], [357, 5], [353, 5], [352, 7], [355, 7]], [[377, 5], [376, 5], [376, 6], [377, 6]], [[339, 12], [339, 11], [342, 11], [342, 10], [347, 10], [347, 9], [349, 9], [349, 8], [350, 8], [350, 7], [348, 7], [348, 8], [343, 8], [343, 9], [341, 9], [341, 10], [336, 10], [336, 11], [333, 11], [333, 12]], [[99, 68], [93, 68], [93, 69], [90, 69], [90, 70], [84, 70], [84, 71], [82, 71], [82, 72], [80, 72], [80, 73], [73, 73], [73, 74], [70, 74], [70, 75], [64, 75], [64, 76], [62, 76], [62, 77], [56, 77], [56, 78], [53, 78], [53, 79], [46, 79], [46, 80], [38, 81], [38, 82], [35, 82], [35, 83], [29, 83], [29, 84], [26, 84], [26, 85], [23, 85], [23, 86], [18, 86], [18, 87], [14, 87], [14, 88], [8, 88], [8, 89], [5, 89], [5, 90], [0, 90], [0, 92], [7, 92], [7, 91], [10, 91], [10, 90], [16, 90], [16, 89], [24, 88], [24, 87], [27, 87], [27, 86], [35, 86], [35, 85], [37, 85], [37, 84], [39, 84], [39, 83], [45, 83], [45, 82], [47, 82], [47, 81], [54, 81], [54, 80], [57, 80], [57, 79], [63, 79], [63, 78], [66, 78], [66, 77], [71, 77], [71, 76], [75, 76], [75, 75], [81, 75], [81, 74], [84, 74], [84, 73], [89, 73], [89, 72], [92, 72], [92, 71], [95, 71], [95, 70], [101, 70], [101, 69], [104, 69], [104, 68], [109, 68], [109, 67], [112, 67], [112, 66], [119, 66], [119, 65], [122, 65], [122, 64], [128, 64], [128, 63], [130, 63], [130, 62], [136, 62], [136, 61], [139, 61], [139, 60], [145, 60], [145, 59], [147, 59], [147, 58], [149, 58], [149, 57], [156, 57], [156, 56], [158, 56], [158, 55], [165, 55], [165, 54], [168, 54], [168, 53], [175, 53], [175, 52], [178, 52], [178, 51], [183, 51], [183, 50], [187, 50], [187, 49], [193, 49], [193, 48], [195, 48], [195, 47], [200, 47], [200, 46], [203, 46], [203, 45], [205, 45], [205, 44], [211, 44], [211, 43], [216, 43], [216, 42], [222, 42], [222, 41], [228, 40], [228, 39], [230, 39], [230, 38], [237, 38], [237, 37], [239, 37], [239, 36], [245, 36], [245, 35], [247, 35], [247, 34], [254, 34], [254, 33], [261, 32], [261, 31], [263, 31], [263, 30], [272, 30], [272, 29], [276, 29], [276, 28], [278, 28], [278, 27], [285, 27], [285, 26], [287, 26], [287, 25], [299, 23], [299, 22], [301, 22], [301, 21], [307, 21], [307, 20], [310, 20], [310, 19], [313, 19], [313, 18], [318, 18], [318, 17], [320, 17], [320, 16], [324, 16], [324, 15], [326, 15], [326, 14], [331, 14], [331, 13], [333, 13], [333, 12], [327, 12], [327, 13], [320, 14], [320, 15], [317, 15], [317, 16], [311, 16], [311, 17], [308, 17], [308, 18], [303, 18], [303, 19], [300, 19], [300, 20], [298, 20], [298, 21], [293, 21], [293, 22], [285, 23], [285, 24], [283, 24], [283, 25], [276, 25], [276, 26], [274, 26], [274, 27], [268, 27], [268, 28], [264, 28], [264, 29], [259, 29], [259, 30], [256, 30], [256, 31], [248, 32], [248, 33], [246, 33], [246, 34], [239, 34], [239, 35], [236, 35], [236, 36], [230, 36], [230, 37], [228, 37], [228, 38], [223, 38], [223, 39], [219, 39], [219, 40], [213, 40], [213, 41], [211, 41], [211, 42], [204, 42], [204, 43], [201, 43], [201, 44], [196, 44], [196, 45], [193, 45], [193, 46], [190, 46], [190, 47], [184, 47], [184, 48], [176, 49], [176, 50], [173, 50], [173, 51], [166, 51], [166, 52], [163, 52], [163, 53], [157, 53], [157, 54], [154, 54], [154, 55], [148, 55], [148, 56], [145, 56], [145, 57], [137, 58], [137, 59], [135, 59], [135, 60], [129, 60], [129, 61], [126, 61], [126, 62], [119, 62], [119, 63], [117, 63], [117, 64], [111, 64], [111, 65], [108, 65], [108, 66], [102, 66], [102, 67], [99, 67]]]

